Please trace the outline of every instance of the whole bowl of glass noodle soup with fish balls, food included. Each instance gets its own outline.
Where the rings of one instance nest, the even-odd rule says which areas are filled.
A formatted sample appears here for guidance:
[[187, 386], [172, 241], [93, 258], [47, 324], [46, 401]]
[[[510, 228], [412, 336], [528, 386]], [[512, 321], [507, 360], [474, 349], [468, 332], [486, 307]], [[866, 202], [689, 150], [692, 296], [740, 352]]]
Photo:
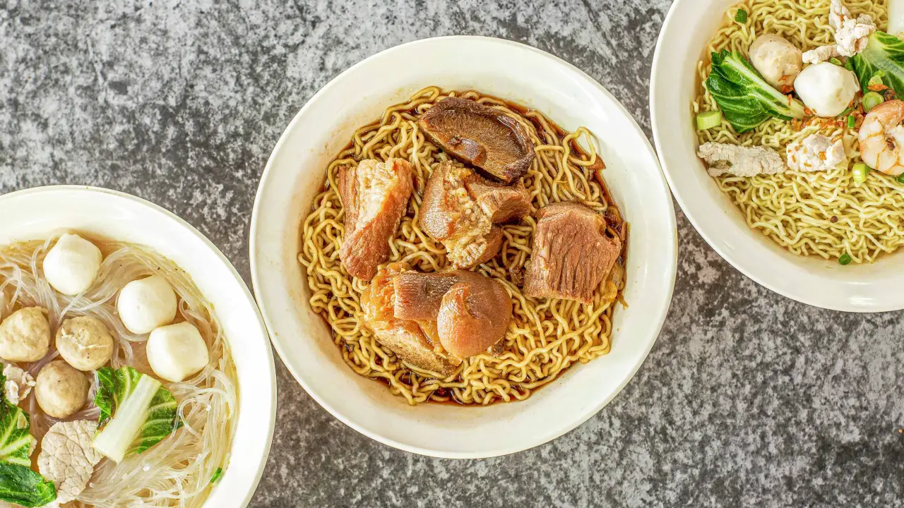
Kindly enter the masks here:
[[124, 193], [36, 188], [0, 197], [0, 213], [0, 499], [245, 506], [276, 384], [230, 262]]

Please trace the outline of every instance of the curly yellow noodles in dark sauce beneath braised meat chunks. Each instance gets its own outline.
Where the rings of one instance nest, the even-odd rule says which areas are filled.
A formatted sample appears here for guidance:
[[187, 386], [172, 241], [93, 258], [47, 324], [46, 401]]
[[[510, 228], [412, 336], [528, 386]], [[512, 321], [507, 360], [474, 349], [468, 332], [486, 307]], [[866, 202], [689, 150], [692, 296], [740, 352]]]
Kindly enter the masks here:
[[[610, 206], [600, 184], [592, 178], [597, 154], [592, 142], [584, 143], [588, 155], [574, 153], [572, 142], [589, 140], [586, 128], [560, 135], [548, 118], [532, 110], [521, 112], [504, 101], [475, 91], [445, 92], [438, 87], [419, 90], [407, 102], [387, 108], [381, 119], [356, 130], [350, 145], [326, 170], [325, 190], [314, 199], [313, 212], [302, 227], [298, 261], [305, 267], [311, 290], [310, 304], [331, 326], [334, 343], [354, 372], [388, 383], [391, 393], [411, 405], [427, 400], [462, 404], [490, 404], [527, 399], [536, 390], [558, 378], [575, 362], [589, 362], [610, 348], [614, 304], [604, 301], [601, 291], [594, 303], [530, 298], [511, 281], [523, 274], [531, 259], [536, 222], [527, 217], [522, 224], [503, 228], [500, 254], [477, 270], [503, 283], [513, 299], [513, 319], [504, 338], [503, 353], [484, 353], [465, 360], [451, 375], [427, 372], [408, 365], [383, 349], [372, 331], [360, 321], [360, 296], [367, 282], [348, 275], [339, 259], [344, 215], [336, 189], [341, 165], [366, 158], [385, 160], [401, 157], [410, 161], [416, 177], [409, 211], [391, 241], [391, 261], [406, 261], [424, 272], [451, 267], [445, 247], [418, 226], [421, 195], [428, 176], [447, 155], [420, 131], [417, 120], [430, 107], [448, 96], [474, 99], [497, 108], [518, 121], [532, 136], [536, 157], [524, 176], [524, 185], [534, 206], [550, 202], [584, 202], [598, 212]], [[535, 123], [536, 122], [536, 125]], [[539, 127], [538, 127], [539, 126]]]

